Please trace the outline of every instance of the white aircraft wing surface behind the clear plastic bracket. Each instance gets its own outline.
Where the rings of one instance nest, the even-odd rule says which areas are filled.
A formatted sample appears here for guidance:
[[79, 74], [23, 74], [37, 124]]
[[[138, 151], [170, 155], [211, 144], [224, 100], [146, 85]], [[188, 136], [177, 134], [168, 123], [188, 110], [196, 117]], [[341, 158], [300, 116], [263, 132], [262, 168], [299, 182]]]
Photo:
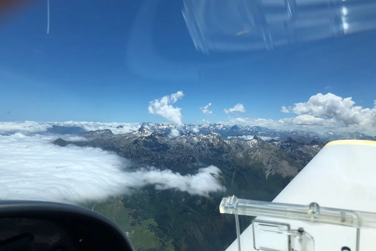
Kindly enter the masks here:
[[[334, 141], [328, 143], [308, 165], [285, 187], [273, 202], [376, 212], [376, 142]], [[339, 143], [338, 143], [339, 142]], [[356, 251], [356, 228], [328, 224], [311, 224], [277, 218], [256, 218], [290, 224], [291, 229], [303, 227], [314, 237], [314, 250], [340, 251], [347, 246]], [[235, 230], [234, 230], [235, 231]], [[253, 248], [250, 225], [241, 234], [241, 250]], [[255, 242], [270, 249], [284, 251], [287, 246], [280, 234], [258, 234]], [[235, 240], [226, 251], [237, 251]], [[359, 250], [376, 250], [376, 230], [361, 229]], [[300, 251], [300, 250], [299, 250]]]

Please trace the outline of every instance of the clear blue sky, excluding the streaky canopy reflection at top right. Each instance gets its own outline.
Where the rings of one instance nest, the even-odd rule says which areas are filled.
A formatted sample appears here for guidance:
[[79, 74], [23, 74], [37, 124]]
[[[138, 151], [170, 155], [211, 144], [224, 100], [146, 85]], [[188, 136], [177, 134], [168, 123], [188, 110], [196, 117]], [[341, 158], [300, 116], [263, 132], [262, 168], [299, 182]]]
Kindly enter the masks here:
[[[375, 32], [272, 51], [197, 52], [180, 0], [37, 1], [0, 23], [0, 120], [158, 122], [149, 102], [183, 91], [183, 123], [278, 120], [331, 92], [373, 108]], [[212, 114], [199, 108], [212, 103]], [[246, 112], [226, 114], [242, 103]], [[10, 113], [9, 113], [10, 111]], [[312, 113], [311, 113], [312, 114]], [[331, 118], [331, 117], [327, 117]], [[337, 118], [338, 119], [338, 118]]]

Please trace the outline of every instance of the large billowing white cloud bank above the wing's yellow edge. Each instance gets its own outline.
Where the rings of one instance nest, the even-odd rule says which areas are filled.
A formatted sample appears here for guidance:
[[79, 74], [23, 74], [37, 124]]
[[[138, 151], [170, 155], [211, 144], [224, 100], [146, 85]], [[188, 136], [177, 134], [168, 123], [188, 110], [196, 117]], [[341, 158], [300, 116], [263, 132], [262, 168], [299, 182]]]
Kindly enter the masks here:
[[[229, 110], [230, 111], [230, 110]], [[275, 129], [309, 129], [323, 132], [328, 130], [357, 131], [376, 134], [376, 100], [373, 108], [355, 106], [352, 97], [343, 98], [332, 93], [318, 93], [307, 102], [282, 106], [281, 112], [298, 116], [279, 120], [259, 118], [229, 118], [217, 123], [229, 125], [255, 125]]]

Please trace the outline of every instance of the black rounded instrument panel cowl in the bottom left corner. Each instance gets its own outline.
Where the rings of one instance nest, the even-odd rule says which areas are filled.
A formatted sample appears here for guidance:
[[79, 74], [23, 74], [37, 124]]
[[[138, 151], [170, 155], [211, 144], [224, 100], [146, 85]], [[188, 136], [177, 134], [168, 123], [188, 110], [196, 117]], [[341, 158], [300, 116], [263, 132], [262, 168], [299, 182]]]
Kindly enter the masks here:
[[0, 251], [134, 251], [110, 219], [54, 202], [0, 200]]

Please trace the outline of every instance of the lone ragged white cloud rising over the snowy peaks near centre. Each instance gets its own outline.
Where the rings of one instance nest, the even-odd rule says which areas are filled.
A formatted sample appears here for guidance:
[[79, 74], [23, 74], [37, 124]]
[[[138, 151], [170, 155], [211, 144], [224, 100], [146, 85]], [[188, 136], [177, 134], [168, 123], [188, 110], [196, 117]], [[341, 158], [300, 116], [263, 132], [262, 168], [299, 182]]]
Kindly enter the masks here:
[[184, 96], [182, 91], [171, 94], [170, 96], [164, 96], [161, 99], [155, 99], [149, 102], [149, 113], [158, 114], [165, 117], [168, 121], [182, 125], [182, 113], [181, 108], [173, 107], [171, 104], [175, 103], [178, 99]]

